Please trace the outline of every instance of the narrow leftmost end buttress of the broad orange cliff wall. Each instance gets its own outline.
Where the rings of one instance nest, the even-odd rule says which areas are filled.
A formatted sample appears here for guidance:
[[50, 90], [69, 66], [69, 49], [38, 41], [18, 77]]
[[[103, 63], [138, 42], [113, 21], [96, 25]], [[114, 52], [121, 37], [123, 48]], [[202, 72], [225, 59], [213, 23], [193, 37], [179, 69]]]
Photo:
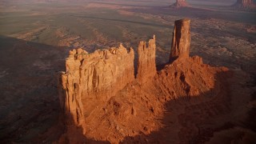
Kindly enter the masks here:
[[76, 50], [70, 51], [69, 58], [66, 58], [66, 73], [62, 72], [59, 76], [58, 93], [66, 125], [83, 127], [85, 118], [79, 85], [81, 62], [74, 54], [77, 54]]

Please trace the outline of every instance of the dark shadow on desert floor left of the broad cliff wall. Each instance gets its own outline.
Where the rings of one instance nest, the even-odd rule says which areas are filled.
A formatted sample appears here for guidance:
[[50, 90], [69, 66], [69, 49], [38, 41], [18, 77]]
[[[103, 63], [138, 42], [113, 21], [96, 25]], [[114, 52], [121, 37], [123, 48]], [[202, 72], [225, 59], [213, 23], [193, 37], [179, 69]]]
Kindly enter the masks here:
[[[55, 75], [65, 69], [68, 50], [5, 36], [0, 42], [0, 141], [39, 142], [58, 124]], [[46, 139], [62, 134], [61, 128], [54, 132]]]

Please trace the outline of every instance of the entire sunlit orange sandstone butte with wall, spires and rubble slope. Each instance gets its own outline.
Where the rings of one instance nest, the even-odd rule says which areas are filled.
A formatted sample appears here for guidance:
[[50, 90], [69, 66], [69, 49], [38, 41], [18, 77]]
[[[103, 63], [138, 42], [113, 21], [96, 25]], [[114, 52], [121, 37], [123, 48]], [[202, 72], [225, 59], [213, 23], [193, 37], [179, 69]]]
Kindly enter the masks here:
[[[66, 72], [58, 77], [60, 119], [65, 126], [59, 142], [189, 141], [194, 136], [194, 126], [180, 129], [175, 110], [174, 116], [168, 117], [174, 122], [173, 127], [162, 130], [162, 119], [168, 114], [166, 106], [196, 98], [195, 103], [222, 107], [221, 103], [228, 100], [224, 97], [228, 69], [209, 66], [203, 64], [202, 58], [189, 56], [189, 19], [175, 22], [170, 63], [158, 71], [155, 41], [154, 36], [148, 43], [139, 42], [138, 65], [134, 65], [134, 50], [122, 45], [92, 54], [82, 49], [70, 50]], [[134, 66], [138, 66], [136, 76]], [[161, 131], [172, 137], [165, 137]]]

